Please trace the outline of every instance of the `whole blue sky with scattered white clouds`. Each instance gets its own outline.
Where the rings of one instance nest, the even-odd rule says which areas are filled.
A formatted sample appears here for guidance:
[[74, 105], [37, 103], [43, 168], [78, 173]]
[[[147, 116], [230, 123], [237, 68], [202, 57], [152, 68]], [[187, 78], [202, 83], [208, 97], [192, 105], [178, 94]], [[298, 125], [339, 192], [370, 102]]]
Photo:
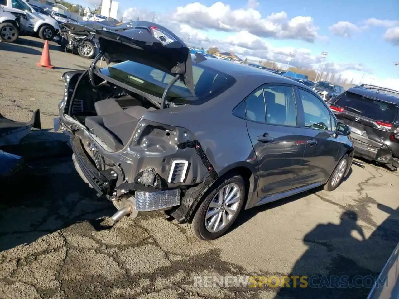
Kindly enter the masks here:
[[154, 17], [190, 45], [242, 59], [286, 63], [292, 52], [290, 65], [317, 68], [326, 51], [326, 70], [399, 89], [398, 0], [120, 0], [119, 10], [124, 22]]

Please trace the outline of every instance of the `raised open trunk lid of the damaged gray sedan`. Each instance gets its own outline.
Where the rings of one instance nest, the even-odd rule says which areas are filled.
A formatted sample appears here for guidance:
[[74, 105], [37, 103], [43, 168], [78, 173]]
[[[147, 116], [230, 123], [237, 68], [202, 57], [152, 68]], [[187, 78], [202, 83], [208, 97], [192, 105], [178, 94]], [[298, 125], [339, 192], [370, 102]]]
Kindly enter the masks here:
[[107, 63], [134, 61], [181, 79], [194, 94], [190, 49], [172, 31], [152, 22], [132, 22], [128, 30], [97, 30], [95, 38]]

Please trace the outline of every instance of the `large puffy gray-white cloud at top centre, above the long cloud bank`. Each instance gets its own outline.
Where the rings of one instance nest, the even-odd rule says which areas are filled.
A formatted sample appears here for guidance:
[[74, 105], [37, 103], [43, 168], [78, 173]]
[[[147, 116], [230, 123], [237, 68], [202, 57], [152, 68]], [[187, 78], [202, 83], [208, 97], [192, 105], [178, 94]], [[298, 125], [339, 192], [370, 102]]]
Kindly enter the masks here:
[[[253, 1], [251, 1], [253, 3]], [[199, 2], [179, 6], [171, 20], [189, 24], [196, 29], [215, 29], [225, 32], [246, 30], [260, 37], [300, 39], [313, 42], [318, 38], [316, 26], [309, 16], [288, 20], [286, 12], [263, 17], [254, 8], [232, 10], [229, 5], [216, 2], [205, 6]]]

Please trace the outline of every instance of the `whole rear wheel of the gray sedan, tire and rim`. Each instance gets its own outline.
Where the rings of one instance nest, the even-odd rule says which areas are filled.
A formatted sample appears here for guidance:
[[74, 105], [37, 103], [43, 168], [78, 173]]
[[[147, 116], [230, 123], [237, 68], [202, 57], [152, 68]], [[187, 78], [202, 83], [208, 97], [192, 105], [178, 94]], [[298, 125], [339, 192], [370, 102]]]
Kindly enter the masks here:
[[240, 175], [211, 188], [187, 223], [192, 234], [201, 240], [214, 240], [223, 235], [236, 220], [245, 201], [245, 181]]

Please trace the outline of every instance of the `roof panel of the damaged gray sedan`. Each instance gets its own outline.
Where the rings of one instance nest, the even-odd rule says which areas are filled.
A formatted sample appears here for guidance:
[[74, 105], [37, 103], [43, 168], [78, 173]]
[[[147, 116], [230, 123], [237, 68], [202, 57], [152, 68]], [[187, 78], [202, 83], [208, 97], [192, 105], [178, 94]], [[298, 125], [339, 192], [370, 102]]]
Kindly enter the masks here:
[[[223, 59], [206, 59], [205, 61], [201, 61], [199, 64], [204, 65], [205, 67], [209, 67], [210, 69], [214, 69], [216, 71], [231, 75], [235, 78], [237, 83], [242, 83], [245, 85], [250, 84], [251, 86], [255, 86], [254, 88], [259, 87], [265, 83], [286, 83], [304, 88], [304, 85], [302, 83], [293, 81], [271, 71], [265, 71], [264, 69], [252, 67], [250, 65], [232, 63], [231, 61]], [[248, 80], [249, 77], [251, 77], [251, 80]]]

